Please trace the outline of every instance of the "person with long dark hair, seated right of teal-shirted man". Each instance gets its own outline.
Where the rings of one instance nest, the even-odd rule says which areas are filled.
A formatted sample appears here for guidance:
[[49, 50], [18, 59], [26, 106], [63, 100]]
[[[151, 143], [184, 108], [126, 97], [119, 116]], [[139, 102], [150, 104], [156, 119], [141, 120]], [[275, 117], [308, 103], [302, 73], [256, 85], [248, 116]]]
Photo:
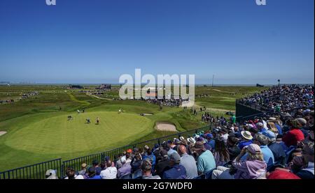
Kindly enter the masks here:
[[214, 160], [216, 160], [216, 166], [224, 166], [230, 161], [230, 154], [228, 148], [225, 146], [223, 137], [216, 138], [216, 147], [214, 148]]

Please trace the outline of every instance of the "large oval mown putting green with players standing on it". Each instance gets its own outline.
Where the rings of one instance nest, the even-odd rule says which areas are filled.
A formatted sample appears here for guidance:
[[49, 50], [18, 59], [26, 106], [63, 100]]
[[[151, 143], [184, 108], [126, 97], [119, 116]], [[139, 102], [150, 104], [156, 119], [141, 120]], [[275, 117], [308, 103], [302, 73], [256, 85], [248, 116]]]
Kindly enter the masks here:
[[[100, 118], [99, 125], [96, 118]], [[90, 118], [91, 123], [86, 123]], [[150, 119], [137, 114], [94, 111], [73, 115], [52, 116], [25, 125], [6, 139], [6, 146], [32, 153], [75, 153], [106, 148], [114, 142], [142, 137], [152, 132]]]

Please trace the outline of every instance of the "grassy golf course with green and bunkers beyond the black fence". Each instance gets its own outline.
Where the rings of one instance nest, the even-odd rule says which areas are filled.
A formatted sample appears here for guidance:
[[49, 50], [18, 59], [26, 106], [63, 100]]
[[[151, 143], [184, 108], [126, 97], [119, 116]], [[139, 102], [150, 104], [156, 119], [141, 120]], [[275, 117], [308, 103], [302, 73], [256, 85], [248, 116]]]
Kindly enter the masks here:
[[[190, 108], [159, 109], [143, 100], [113, 100], [118, 98], [119, 86], [104, 95], [84, 92], [92, 88], [0, 86], [0, 100], [14, 100], [0, 105], [0, 171], [59, 157], [71, 159], [207, 125], [201, 120], [202, 113], [192, 114]], [[207, 107], [215, 116], [227, 116], [227, 111], [235, 110], [237, 98], [262, 89], [266, 87], [197, 86], [196, 95], [207, 97], [195, 98], [194, 109]], [[23, 93], [31, 92], [38, 95], [21, 99]]]

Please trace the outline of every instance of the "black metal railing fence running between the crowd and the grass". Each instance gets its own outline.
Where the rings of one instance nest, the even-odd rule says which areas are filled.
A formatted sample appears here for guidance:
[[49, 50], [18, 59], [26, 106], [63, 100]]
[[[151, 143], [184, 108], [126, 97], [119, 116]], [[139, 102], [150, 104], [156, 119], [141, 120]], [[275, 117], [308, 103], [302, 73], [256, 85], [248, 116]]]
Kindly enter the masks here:
[[159, 137], [148, 141], [142, 141], [137, 144], [131, 144], [127, 146], [122, 146], [120, 148], [106, 150], [101, 153], [94, 153], [92, 155], [76, 157], [71, 160], [62, 161], [61, 158], [58, 158], [47, 162], [40, 162], [38, 164], [28, 165], [26, 167], [2, 171], [0, 172], [0, 179], [44, 179], [45, 171], [47, 171], [48, 169], [54, 169], [55, 171], [57, 171], [57, 176], [59, 178], [64, 178], [67, 167], [71, 167], [76, 171], [80, 171], [81, 164], [83, 163], [87, 165], [92, 165], [93, 160], [102, 161], [105, 160], [105, 157], [107, 156], [111, 157], [111, 160], [113, 160], [115, 155], [123, 153], [123, 151], [127, 149], [132, 149], [136, 147], [144, 148], [144, 146], [153, 147], [155, 146], [155, 144], [161, 145], [163, 141], [173, 140], [174, 138], [178, 139], [179, 137], [192, 137], [194, 133], [200, 132], [201, 130], [211, 130], [211, 125], [207, 125], [194, 130], [188, 130], [186, 132], [170, 134], [165, 137]]

